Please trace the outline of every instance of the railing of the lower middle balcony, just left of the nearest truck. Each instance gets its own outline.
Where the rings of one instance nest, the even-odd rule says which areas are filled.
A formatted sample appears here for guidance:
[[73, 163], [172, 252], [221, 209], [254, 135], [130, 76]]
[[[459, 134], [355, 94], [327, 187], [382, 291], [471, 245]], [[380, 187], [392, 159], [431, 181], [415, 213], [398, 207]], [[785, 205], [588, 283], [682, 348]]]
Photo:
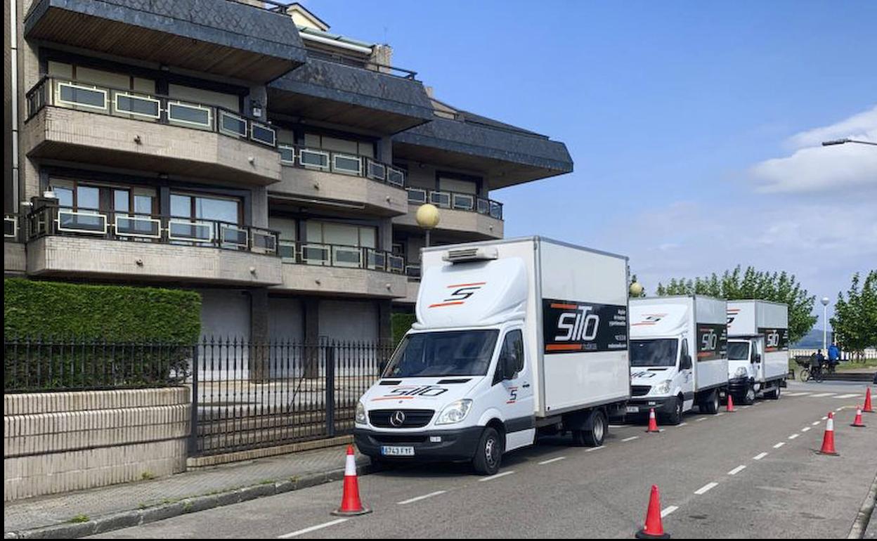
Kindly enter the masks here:
[[405, 260], [392, 253], [363, 246], [332, 245], [302, 240], [281, 240], [280, 256], [284, 263], [321, 267], [365, 268], [403, 274]]

